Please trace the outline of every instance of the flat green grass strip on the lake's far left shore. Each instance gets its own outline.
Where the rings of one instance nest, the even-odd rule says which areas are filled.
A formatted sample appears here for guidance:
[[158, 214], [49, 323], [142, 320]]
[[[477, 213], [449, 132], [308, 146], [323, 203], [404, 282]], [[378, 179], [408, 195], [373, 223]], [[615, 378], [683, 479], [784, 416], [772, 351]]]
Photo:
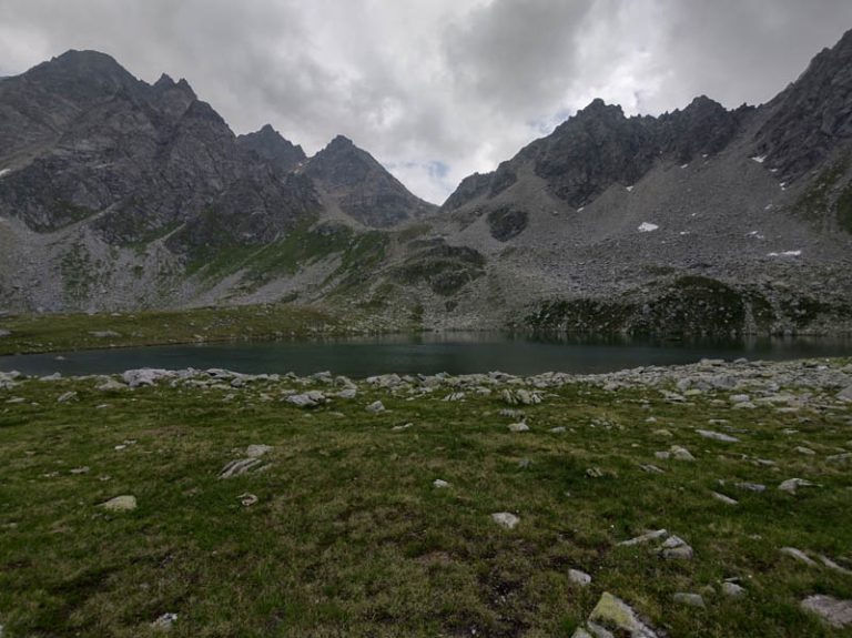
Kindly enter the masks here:
[[[349, 317], [352, 318], [352, 317]], [[0, 318], [0, 355], [175, 343], [251, 341], [343, 334], [331, 315], [286, 304], [146, 311], [116, 314], [45, 314]], [[95, 336], [95, 332], [116, 333]]]

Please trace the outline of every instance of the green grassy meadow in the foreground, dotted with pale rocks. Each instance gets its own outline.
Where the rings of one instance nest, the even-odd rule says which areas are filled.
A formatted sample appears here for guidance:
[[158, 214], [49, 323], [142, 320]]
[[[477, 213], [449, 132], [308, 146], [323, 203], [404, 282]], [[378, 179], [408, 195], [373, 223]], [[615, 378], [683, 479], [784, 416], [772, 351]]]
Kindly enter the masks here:
[[[152, 636], [150, 624], [173, 611], [176, 637], [567, 638], [605, 590], [672, 637], [843, 635], [798, 601], [850, 598], [852, 578], [778, 550], [852, 558], [849, 469], [825, 460], [852, 445], [848, 408], [730, 411], [712, 395], [673, 405], [656, 391], [576, 384], [525, 408], [531, 432], [513, 434], [496, 395], [443, 402], [449, 389], [407, 401], [362, 386], [355, 399], [302, 411], [277, 401], [302, 387], [286, 378], [240, 389], [94, 386], [32, 381], [0, 391], [7, 636]], [[57, 403], [68, 391], [78, 401]], [[12, 397], [24, 401], [6, 403]], [[388, 411], [366, 413], [377, 398]], [[741, 443], [694, 433], [720, 417], [744, 431]], [[413, 426], [392, 429], [405, 423]], [[555, 426], [567, 432], [549, 433]], [[114, 449], [125, 440], [135, 443]], [[267, 472], [216, 478], [256, 443], [274, 446]], [[697, 462], [653, 458], [672, 443]], [[90, 470], [71, 474], [81, 466]], [[604, 476], [590, 478], [590, 467]], [[820, 487], [775, 489], [793, 476]], [[433, 488], [436, 478], [450, 487]], [[720, 489], [720, 478], [769, 489]], [[721, 504], [711, 489], [740, 504]], [[244, 493], [258, 503], [243, 507]], [[135, 495], [139, 508], [98, 507], [120, 494]], [[490, 520], [503, 510], [520, 516], [517, 528]], [[660, 527], [692, 545], [694, 559], [617, 545]], [[571, 567], [592, 575], [588, 589], [569, 584]], [[671, 602], [674, 591], [718, 590], [733, 576], [748, 597], [707, 596], [701, 610]]]

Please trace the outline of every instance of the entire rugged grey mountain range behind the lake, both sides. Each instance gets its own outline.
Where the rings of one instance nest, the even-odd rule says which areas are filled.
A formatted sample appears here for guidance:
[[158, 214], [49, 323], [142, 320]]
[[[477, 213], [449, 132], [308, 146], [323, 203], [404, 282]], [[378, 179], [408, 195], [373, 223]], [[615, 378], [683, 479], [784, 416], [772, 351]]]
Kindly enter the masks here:
[[601, 100], [436, 209], [69, 52], [0, 83], [0, 310], [296, 302], [377, 327], [852, 330], [852, 34], [760, 107]]

